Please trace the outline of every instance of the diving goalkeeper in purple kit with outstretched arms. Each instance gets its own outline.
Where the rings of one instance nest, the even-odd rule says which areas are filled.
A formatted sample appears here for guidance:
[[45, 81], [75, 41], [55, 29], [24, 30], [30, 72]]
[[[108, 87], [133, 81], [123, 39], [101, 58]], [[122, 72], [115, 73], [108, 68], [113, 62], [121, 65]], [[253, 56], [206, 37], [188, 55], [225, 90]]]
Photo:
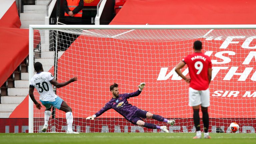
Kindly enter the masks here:
[[144, 86], [145, 83], [141, 83], [138, 86], [139, 89], [136, 92], [119, 94], [118, 84], [114, 83], [110, 86], [110, 91], [112, 93], [111, 100], [107, 102], [106, 105], [99, 112], [87, 117], [86, 119], [94, 120], [94, 118], [100, 116], [101, 114], [112, 108], [132, 124], [143, 126], [150, 129], [161, 129], [164, 132], [169, 132], [166, 126], [158, 126], [151, 123], [146, 123], [141, 118], [153, 118], [161, 122], [166, 122], [170, 125], [174, 125], [175, 120], [167, 120], [160, 115], [155, 115], [145, 110], [141, 110], [136, 106], [132, 106], [128, 103], [127, 99], [138, 96], [141, 93]]

